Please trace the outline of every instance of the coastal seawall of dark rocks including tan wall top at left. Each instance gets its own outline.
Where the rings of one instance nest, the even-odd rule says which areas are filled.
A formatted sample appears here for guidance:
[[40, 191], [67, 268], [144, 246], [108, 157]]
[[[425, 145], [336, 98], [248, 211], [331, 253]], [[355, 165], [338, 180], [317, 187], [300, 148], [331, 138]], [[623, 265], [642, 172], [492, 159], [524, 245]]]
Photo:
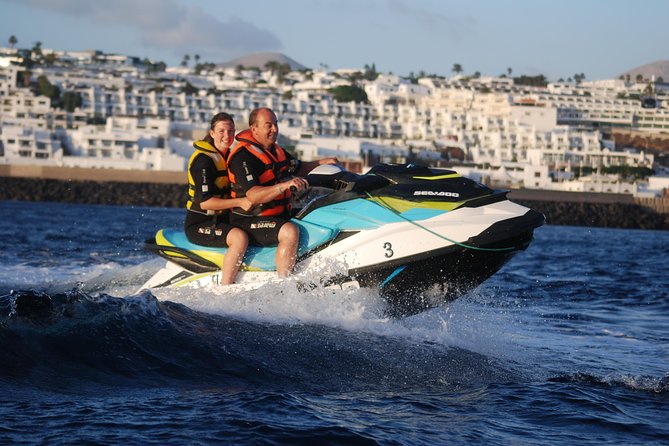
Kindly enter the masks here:
[[[183, 207], [186, 181], [185, 172], [0, 166], [0, 200]], [[630, 195], [519, 189], [509, 198], [542, 212], [553, 225], [669, 229], [668, 213]]]

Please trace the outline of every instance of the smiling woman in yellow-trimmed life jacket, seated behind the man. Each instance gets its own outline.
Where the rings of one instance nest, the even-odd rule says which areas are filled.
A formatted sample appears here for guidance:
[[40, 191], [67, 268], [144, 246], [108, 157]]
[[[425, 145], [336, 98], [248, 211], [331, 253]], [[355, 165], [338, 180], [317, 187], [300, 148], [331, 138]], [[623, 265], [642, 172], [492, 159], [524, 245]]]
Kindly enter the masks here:
[[230, 225], [229, 210], [252, 207], [247, 198], [230, 198], [226, 158], [235, 140], [235, 122], [227, 113], [211, 120], [208, 134], [195, 141], [188, 161], [188, 212], [184, 228], [191, 243], [228, 247], [221, 265], [221, 283], [234, 283], [249, 244], [246, 233]]

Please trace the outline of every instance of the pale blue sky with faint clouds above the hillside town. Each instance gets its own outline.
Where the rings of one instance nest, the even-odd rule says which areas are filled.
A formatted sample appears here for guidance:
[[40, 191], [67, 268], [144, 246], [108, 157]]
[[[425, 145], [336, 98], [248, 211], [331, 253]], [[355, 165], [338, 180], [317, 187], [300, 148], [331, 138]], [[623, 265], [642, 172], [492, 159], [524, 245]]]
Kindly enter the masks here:
[[669, 60], [668, 18], [667, 0], [0, 0], [0, 46], [595, 80]]

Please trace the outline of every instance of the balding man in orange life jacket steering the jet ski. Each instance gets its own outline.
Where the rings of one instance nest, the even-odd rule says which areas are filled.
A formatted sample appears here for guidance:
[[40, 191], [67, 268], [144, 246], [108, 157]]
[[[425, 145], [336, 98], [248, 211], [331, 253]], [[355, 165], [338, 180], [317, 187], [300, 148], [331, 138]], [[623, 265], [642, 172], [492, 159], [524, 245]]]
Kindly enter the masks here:
[[278, 243], [276, 269], [287, 277], [297, 260], [300, 232], [291, 223], [290, 197], [309, 185], [304, 176], [320, 164], [335, 164], [336, 158], [301, 162], [277, 143], [277, 117], [269, 108], [258, 108], [249, 116], [249, 128], [237, 135], [238, 144], [228, 157], [232, 197], [246, 197], [254, 208], [235, 208], [230, 222], [245, 230], [249, 241], [261, 246]]

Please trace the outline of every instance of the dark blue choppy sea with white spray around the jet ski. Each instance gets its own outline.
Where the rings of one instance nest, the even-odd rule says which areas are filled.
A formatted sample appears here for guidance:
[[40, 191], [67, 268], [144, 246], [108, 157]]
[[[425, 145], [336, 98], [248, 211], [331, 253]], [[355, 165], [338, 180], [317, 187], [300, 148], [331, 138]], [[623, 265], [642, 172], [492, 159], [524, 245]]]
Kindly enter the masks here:
[[669, 232], [544, 226], [392, 319], [291, 280], [137, 293], [182, 210], [0, 215], [0, 444], [669, 444]]

